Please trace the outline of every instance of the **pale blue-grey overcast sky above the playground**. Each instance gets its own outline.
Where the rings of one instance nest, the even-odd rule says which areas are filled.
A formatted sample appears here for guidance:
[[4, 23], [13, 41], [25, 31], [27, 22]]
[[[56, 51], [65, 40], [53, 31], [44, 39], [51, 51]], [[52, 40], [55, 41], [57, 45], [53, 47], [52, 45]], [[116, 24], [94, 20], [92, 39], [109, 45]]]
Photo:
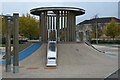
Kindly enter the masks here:
[[89, 20], [96, 14], [98, 14], [98, 17], [118, 18], [118, 2], [2, 2], [2, 14], [13, 15], [13, 13], [19, 12], [21, 16], [22, 14], [30, 13], [30, 10], [33, 8], [46, 6], [84, 9], [85, 14], [77, 16], [76, 24], [84, 20]]

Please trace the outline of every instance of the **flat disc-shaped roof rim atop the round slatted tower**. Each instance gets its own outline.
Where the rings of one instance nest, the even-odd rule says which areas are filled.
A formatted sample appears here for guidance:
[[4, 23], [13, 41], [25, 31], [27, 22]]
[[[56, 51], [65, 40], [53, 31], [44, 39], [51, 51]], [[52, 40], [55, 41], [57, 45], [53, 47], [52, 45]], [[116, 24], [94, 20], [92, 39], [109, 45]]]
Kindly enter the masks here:
[[31, 9], [30, 13], [33, 15], [40, 15], [40, 13], [44, 11], [72, 11], [75, 13], [75, 15], [85, 14], [84, 9], [75, 8], [75, 7], [40, 7], [40, 8]]

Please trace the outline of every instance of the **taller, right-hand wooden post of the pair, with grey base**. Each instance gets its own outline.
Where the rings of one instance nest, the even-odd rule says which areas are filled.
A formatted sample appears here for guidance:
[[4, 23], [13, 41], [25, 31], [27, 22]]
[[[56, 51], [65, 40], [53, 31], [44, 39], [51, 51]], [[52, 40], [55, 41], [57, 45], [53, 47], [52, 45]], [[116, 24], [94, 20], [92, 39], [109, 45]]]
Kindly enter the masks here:
[[19, 14], [13, 14], [14, 20], [14, 33], [13, 33], [13, 73], [19, 72], [19, 56], [18, 56], [18, 44], [19, 44]]

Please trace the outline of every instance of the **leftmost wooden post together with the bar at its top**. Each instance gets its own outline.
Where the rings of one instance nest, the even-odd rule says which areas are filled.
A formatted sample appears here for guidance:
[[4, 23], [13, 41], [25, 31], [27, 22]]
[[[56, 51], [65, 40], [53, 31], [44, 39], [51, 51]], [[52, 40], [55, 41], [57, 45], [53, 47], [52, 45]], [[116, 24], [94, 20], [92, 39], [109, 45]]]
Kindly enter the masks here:
[[11, 25], [10, 22], [13, 21], [13, 17], [10, 15], [0, 15], [5, 18], [5, 28], [6, 28], [6, 72], [11, 72], [11, 39], [10, 39], [10, 33], [11, 33]]

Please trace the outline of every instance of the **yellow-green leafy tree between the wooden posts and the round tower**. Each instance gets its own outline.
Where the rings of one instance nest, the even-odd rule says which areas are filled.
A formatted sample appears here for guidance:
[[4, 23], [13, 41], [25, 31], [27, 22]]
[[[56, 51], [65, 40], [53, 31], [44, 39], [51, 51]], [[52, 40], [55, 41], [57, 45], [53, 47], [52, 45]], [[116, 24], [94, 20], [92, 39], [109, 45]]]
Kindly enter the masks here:
[[19, 18], [19, 31], [20, 35], [29, 39], [38, 39], [39, 38], [39, 21], [34, 17], [31, 17], [30, 14], [23, 14]]

